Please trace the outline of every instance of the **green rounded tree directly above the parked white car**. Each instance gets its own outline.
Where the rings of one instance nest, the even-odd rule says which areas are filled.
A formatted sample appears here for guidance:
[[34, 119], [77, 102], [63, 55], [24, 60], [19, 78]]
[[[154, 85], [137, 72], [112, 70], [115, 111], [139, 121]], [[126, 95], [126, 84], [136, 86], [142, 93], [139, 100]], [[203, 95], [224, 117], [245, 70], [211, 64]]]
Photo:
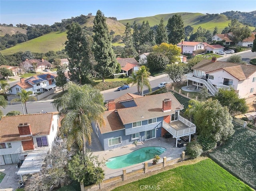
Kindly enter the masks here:
[[165, 72], [168, 74], [169, 79], [173, 82], [182, 81], [187, 71], [187, 65], [185, 63], [172, 63], [166, 65]]

